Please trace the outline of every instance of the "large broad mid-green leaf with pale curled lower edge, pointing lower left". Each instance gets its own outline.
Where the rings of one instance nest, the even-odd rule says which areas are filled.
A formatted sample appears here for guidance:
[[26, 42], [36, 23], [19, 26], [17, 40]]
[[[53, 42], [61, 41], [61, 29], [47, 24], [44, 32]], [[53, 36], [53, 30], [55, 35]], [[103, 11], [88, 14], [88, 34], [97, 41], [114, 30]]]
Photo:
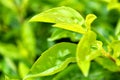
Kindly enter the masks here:
[[53, 75], [75, 62], [76, 44], [62, 42], [46, 50], [24, 78]]

